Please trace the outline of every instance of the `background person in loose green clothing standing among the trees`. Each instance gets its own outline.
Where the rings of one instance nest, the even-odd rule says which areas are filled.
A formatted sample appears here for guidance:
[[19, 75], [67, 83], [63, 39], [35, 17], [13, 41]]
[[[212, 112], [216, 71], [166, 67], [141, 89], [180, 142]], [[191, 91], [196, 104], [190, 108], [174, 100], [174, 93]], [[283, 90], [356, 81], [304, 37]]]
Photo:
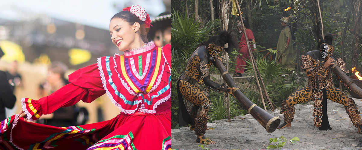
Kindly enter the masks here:
[[277, 56], [279, 64], [283, 65], [283, 68], [288, 69], [289, 71], [295, 70], [295, 51], [293, 49], [291, 39], [292, 35], [288, 23], [290, 17], [283, 17], [282, 21], [282, 31], [279, 35], [278, 45], [277, 45]]

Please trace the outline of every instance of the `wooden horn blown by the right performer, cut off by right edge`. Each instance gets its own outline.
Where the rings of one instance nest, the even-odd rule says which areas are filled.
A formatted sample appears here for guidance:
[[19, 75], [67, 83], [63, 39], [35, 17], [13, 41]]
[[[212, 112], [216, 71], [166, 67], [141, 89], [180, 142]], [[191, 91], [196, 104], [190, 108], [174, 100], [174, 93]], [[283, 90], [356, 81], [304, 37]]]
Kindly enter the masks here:
[[339, 67], [337, 62], [334, 60], [334, 64], [332, 66], [333, 71], [343, 80], [344, 83], [349, 87], [351, 91], [353, 91], [355, 94], [357, 94], [359, 97], [362, 97], [362, 89], [357, 86], [353, 79], [348, 77], [342, 69]]

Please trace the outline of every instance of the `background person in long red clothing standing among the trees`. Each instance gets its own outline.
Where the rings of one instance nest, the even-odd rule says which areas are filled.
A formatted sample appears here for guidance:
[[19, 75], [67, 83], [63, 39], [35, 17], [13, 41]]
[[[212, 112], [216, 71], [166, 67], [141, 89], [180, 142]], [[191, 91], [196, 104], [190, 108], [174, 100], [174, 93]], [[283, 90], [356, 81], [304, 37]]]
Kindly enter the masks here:
[[245, 40], [244, 29], [243, 29], [243, 25], [241, 24], [240, 18], [236, 17], [236, 23], [237, 23], [236, 26], [241, 34], [241, 38], [240, 38], [240, 42], [239, 42], [239, 49], [237, 49], [237, 51], [239, 52], [239, 55], [237, 55], [237, 57], [236, 57], [235, 77], [242, 76], [241, 73], [244, 73], [244, 71], [245, 71], [244, 65], [247, 65], [245, 60], [250, 59], [249, 51], [248, 51], [248, 47], [247, 47], [247, 41], [249, 42], [249, 44], [251, 42], [254, 43], [253, 44], [254, 49], [252, 49], [252, 51], [255, 51], [255, 49], [256, 49], [254, 34], [251, 31], [251, 29], [249, 29], [249, 22], [246, 19], [243, 19], [243, 22], [244, 22], [245, 32], [247, 33], [248, 40]]

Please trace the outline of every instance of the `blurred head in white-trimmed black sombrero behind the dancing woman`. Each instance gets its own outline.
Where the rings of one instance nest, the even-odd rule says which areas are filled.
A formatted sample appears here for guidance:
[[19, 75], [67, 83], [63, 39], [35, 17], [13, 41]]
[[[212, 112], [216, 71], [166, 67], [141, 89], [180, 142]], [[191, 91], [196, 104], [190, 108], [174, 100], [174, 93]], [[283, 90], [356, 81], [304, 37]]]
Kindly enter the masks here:
[[171, 44], [171, 13], [161, 13], [151, 20], [151, 24], [148, 40], [152, 40], [157, 47]]

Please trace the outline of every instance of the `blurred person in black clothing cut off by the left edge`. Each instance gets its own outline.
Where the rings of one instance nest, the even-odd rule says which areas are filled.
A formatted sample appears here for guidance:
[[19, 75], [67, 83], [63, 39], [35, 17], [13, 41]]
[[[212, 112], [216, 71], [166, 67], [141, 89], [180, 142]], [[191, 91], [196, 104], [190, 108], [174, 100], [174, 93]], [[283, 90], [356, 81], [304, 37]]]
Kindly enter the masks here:
[[[0, 58], [4, 55], [3, 50], [0, 48]], [[16, 97], [13, 94], [13, 88], [10, 86], [9, 82], [12, 82], [8, 79], [7, 74], [3, 71], [0, 71], [0, 119], [4, 120], [5, 117], [5, 107], [13, 108]]]

